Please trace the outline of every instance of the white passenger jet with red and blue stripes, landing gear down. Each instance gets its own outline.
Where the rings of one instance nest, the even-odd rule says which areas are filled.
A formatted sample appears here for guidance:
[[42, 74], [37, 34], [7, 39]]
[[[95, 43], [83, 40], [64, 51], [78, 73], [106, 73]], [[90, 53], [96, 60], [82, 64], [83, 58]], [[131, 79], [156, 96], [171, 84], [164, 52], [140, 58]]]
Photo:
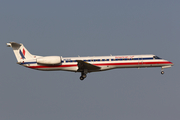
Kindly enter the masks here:
[[87, 77], [87, 73], [111, 70], [116, 68], [170, 68], [174, 64], [156, 55], [115, 55], [92, 57], [62, 57], [32, 55], [21, 43], [9, 42], [17, 59], [17, 64], [27, 68], [42, 71], [71, 71], [81, 72], [80, 80]]

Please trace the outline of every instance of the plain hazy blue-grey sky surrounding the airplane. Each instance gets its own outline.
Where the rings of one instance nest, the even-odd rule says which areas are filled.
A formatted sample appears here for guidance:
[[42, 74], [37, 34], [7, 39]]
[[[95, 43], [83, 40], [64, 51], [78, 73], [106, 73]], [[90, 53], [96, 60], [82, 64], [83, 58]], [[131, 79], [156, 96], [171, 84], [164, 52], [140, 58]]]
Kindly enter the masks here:
[[[179, 0], [1, 0], [1, 120], [179, 120]], [[90, 73], [16, 64], [6, 43], [63, 57], [155, 54], [172, 68]]]

